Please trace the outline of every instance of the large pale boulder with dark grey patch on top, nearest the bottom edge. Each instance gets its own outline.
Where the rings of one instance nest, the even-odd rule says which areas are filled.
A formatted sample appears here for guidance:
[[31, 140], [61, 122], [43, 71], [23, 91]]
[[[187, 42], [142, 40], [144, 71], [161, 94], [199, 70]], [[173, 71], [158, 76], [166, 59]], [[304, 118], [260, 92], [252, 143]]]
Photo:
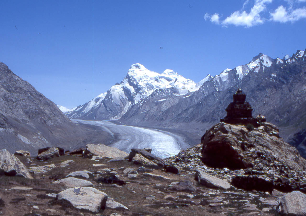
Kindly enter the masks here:
[[63, 206], [73, 206], [94, 213], [105, 208], [108, 196], [106, 193], [91, 187], [69, 188], [58, 193], [57, 200]]

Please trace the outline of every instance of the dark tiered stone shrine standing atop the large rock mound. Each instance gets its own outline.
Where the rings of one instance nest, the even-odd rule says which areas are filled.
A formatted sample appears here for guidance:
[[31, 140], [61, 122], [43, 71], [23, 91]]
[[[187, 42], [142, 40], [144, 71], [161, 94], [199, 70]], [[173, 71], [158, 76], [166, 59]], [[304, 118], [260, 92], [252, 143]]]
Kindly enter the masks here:
[[256, 118], [252, 117], [253, 108], [248, 102], [245, 102], [246, 95], [242, 93], [238, 88], [237, 92], [233, 94], [234, 101], [231, 102], [225, 109], [227, 115], [224, 119], [220, 119], [221, 122], [229, 124], [252, 124], [258, 127], [261, 122], [265, 122], [266, 118], [262, 115], [258, 115]]

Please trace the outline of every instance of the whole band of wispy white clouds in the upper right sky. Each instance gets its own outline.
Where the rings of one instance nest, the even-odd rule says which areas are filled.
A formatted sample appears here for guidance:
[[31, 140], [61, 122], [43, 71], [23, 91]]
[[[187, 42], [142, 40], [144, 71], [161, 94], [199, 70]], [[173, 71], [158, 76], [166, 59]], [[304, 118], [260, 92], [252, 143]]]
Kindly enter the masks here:
[[214, 24], [222, 25], [223, 27], [229, 25], [252, 27], [263, 24], [266, 21], [286, 23], [306, 18], [306, 7], [298, 7], [301, 2], [306, 2], [306, 0], [284, 0], [287, 2], [288, 8], [280, 5], [274, 10], [267, 8], [273, 0], [255, 0], [252, 8], [247, 12], [244, 8], [249, 4], [249, 1], [250, 0], [246, 0], [241, 10], [234, 11], [224, 20], [220, 20], [218, 13], [213, 15], [206, 13], [204, 19]]

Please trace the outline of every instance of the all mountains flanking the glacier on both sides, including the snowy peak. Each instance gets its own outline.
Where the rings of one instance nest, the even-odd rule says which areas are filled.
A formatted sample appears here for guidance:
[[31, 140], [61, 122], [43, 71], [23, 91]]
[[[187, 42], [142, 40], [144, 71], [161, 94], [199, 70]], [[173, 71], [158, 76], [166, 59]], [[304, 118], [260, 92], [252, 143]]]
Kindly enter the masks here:
[[90, 142], [110, 145], [118, 141], [101, 127], [77, 125], [69, 118], [113, 120], [181, 132], [189, 145], [198, 144], [205, 130], [226, 115], [225, 108], [239, 87], [254, 109], [253, 116], [266, 116], [268, 122], [280, 128], [285, 141], [306, 156], [303, 50], [276, 59], [259, 53], [247, 64], [227, 68], [216, 76], [203, 75], [198, 83], [169, 69], [159, 74], [133, 64], [121, 82], [73, 110], [56, 106], [5, 64], [0, 66], [0, 133], [3, 148], [10, 151], [36, 151], [57, 145], [74, 148]]

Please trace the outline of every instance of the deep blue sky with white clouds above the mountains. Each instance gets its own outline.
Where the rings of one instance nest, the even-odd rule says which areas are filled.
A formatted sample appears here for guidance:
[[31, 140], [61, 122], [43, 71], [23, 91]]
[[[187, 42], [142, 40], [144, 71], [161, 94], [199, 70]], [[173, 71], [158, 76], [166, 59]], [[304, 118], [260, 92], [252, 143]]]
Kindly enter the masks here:
[[[0, 61], [73, 108], [120, 82], [130, 65], [195, 82], [306, 48], [306, 0], [3, 1]], [[162, 47], [162, 49], [161, 49]]]

